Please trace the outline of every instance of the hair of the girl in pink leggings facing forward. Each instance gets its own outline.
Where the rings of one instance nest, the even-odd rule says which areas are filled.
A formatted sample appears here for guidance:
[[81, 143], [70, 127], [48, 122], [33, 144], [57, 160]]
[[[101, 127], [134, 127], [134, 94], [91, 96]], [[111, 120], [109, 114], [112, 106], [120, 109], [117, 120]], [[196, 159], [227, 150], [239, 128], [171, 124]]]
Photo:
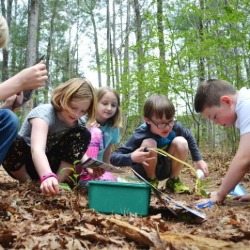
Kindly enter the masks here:
[[117, 109], [115, 114], [110, 117], [107, 120], [107, 124], [113, 128], [118, 128], [122, 126], [122, 115], [121, 115], [121, 101], [120, 101], [120, 96], [119, 93], [116, 89], [110, 88], [108, 86], [105, 87], [101, 87], [97, 90], [96, 92], [96, 96], [97, 96], [97, 101], [100, 102], [102, 97], [106, 94], [106, 93], [113, 93], [116, 98], [117, 98]]

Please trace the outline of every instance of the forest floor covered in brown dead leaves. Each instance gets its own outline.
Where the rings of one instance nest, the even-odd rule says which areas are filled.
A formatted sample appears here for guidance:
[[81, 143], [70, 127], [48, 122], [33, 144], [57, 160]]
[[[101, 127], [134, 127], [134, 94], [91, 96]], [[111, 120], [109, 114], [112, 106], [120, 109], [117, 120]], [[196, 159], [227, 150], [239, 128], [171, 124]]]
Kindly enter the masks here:
[[[210, 177], [206, 192], [216, 191], [231, 160], [204, 154]], [[128, 175], [132, 175], [126, 168]], [[195, 177], [184, 167], [180, 178], [191, 189]], [[163, 183], [161, 183], [163, 184]], [[241, 185], [250, 192], [250, 175]], [[250, 249], [250, 202], [227, 199], [198, 209], [204, 220], [173, 215], [152, 194], [149, 215], [101, 214], [88, 208], [87, 192], [61, 190], [42, 195], [39, 183], [19, 185], [0, 169], [0, 249]], [[197, 194], [168, 194], [194, 208]]]

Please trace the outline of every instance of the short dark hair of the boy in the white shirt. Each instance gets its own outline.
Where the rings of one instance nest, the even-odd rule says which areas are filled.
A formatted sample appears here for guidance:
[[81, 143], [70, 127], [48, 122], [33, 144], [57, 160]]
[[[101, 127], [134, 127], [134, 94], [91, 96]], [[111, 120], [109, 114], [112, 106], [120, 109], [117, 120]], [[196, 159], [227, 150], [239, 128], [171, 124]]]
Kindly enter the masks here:
[[235, 95], [236, 92], [235, 87], [225, 80], [202, 81], [195, 94], [194, 109], [197, 113], [201, 113], [205, 108], [220, 106], [221, 96]]

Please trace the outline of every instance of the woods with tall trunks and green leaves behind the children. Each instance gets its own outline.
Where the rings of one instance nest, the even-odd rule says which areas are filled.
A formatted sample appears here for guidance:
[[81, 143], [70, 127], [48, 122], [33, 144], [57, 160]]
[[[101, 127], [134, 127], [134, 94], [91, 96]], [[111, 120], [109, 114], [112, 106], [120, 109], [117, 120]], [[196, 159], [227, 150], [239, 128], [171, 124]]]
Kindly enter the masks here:
[[[108, 85], [121, 95], [121, 143], [142, 122], [145, 99], [161, 93], [173, 101], [176, 118], [202, 150], [233, 153], [238, 131], [197, 115], [193, 98], [202, 79], [249, 87], [249, 7], [248, 0], [1, 0], [10, 27], [1, 78], [45, 54], [49, 81], [36, 91], [36, 106], [49, 102], [58, 84], [85, 77], [89, 68], [95, 87]], [[27, 108], [32, 107], [18, 113], [21, 121]]]

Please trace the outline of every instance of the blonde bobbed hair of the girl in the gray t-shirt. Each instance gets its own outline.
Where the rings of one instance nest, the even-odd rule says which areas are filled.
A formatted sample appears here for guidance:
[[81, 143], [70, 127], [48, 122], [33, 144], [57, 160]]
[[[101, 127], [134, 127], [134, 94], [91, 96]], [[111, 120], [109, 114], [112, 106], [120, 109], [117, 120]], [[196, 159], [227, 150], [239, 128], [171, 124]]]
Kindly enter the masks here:
[[91, 122], [94, 121], [96, 116], [97, 100], [95, 90], [88, 80], [73, 78], [65, 83], [62, 83], [52, 92], [51, 103], [58, 112], [63, 110], [72, 112], [70, 102], [73, 99], [90, 101], [87, 115]]

